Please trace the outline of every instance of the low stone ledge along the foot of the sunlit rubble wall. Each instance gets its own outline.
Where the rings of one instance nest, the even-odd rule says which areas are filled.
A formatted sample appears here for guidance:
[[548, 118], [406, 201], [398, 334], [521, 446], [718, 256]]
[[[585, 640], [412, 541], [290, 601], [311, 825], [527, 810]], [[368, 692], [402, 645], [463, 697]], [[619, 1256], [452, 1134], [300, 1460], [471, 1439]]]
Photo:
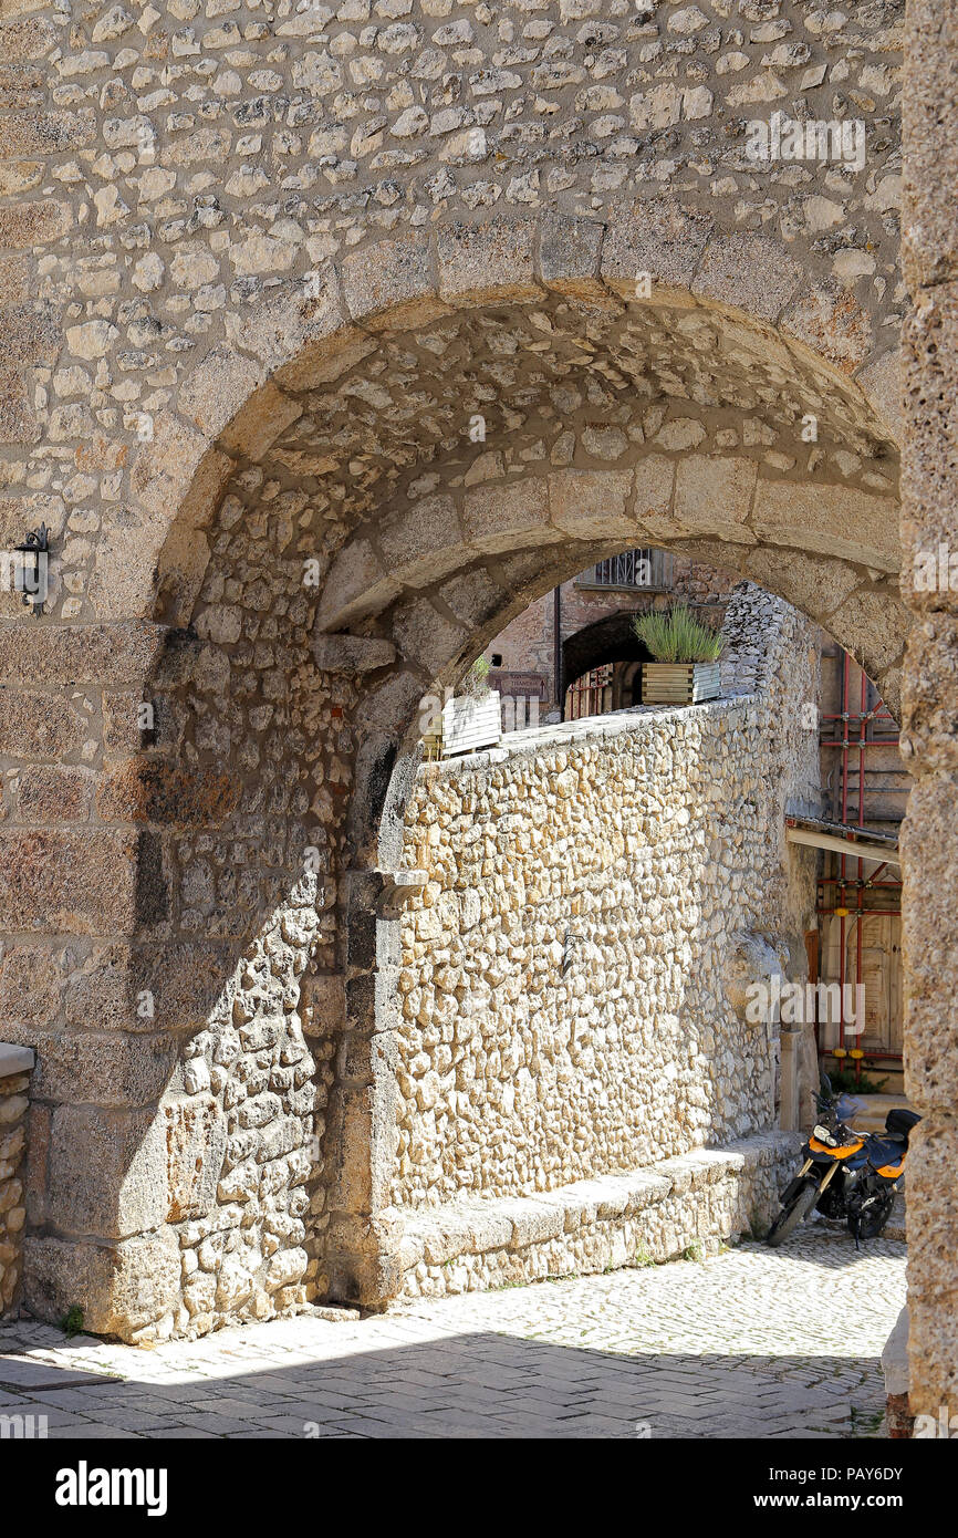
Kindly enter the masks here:
[[[589, 1272], [627, 1264], [640, 1243], [657, 1261], [695, 1241], [717, 1246], [747, 1229], [752, 1210], [770, 1217], [778, 1181], [800, 1146], [798, 1134], [764, 1132], [531, 1197], [404, 1212], [403, 1290], [437, 1295], [495, 1286], [477, 1275], [478, 1258], [497, 1278], [534, 1281], [561, 1273], [557, 1266]], [[457, 1261], [460, 1272], [472, 1275], [449, 1273]]]

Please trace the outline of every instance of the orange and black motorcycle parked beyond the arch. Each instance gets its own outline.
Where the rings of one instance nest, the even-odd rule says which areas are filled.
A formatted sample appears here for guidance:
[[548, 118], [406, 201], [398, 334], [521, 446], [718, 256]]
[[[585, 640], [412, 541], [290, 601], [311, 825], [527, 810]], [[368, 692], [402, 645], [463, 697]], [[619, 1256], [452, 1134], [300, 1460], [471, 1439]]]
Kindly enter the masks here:
[[892, 1215], [909, 1135], [921, 1117], [896, 1107], [884, 1118], [884, 1132], [855, 1132], [846, 1124], [855, 1101], [835, 1095], [824, 1074], [815, 1106], [818, 1120], [801, 1150], [801, 1169], [781, 1193], [766, 1244], [783, 1244], [815, 1209], [824, 1218], [844, 1218], [858, 1249], [860, 1240], [878, 1238]]

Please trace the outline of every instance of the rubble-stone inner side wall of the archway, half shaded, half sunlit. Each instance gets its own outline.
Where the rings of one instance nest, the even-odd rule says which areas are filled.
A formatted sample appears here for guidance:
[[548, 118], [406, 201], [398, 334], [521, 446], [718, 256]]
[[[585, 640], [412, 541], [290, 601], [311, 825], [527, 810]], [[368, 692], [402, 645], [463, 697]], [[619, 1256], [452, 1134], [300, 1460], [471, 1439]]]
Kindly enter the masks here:
[[171, 711], [180, 752], [205, 775], [229, 764], [218, 827], [208, 820], [175, 844], [180, 930], [228, 943], [217, 1001], [160, 1107], [197, 1120], [205, 1141], [201, 1189], [183, 1200], [174, 1173], [165, 1212], [181, 1298], [163, 1329], [178, 1333], [269, 1318], [328, 1286], [318, 1257], [337, 1023], [320, 1014], [323, 1034], [308, 1038], [303, 983], [308, 969], [338, 974], [332, 872], [351, 744], [335, 723], [352, 698], [309, 666], [309, 603], [288, 548], [297, 498], [275, 495], [251, 517], [260, 481], [248, 472], [246, 504], [225, 506], [195, 661]]

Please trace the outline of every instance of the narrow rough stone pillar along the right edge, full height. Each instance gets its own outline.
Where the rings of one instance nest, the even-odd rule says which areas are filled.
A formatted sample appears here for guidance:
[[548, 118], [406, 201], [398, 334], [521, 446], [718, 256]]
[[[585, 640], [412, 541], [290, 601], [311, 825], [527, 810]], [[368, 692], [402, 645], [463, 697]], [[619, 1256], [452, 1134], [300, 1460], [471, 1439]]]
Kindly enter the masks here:
[[[958, 1410], [958, 588], [915, 591], [916, 557], [958, 555], [958, 0], [910, 0], [903, 266], [903, 594], [918, 623], [903, 689], [915, 787], [903, 829], [906, 1087], [923, 1115], [907, 1173], [910, 1412]], [[944, 568], [940, 552], [944, 549]]]

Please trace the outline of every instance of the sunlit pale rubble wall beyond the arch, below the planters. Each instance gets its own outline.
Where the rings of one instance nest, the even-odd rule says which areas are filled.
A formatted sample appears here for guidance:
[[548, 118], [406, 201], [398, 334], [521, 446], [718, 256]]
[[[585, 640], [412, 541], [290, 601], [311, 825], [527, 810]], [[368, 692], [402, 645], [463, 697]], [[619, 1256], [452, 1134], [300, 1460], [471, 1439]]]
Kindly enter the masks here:
[[[730, 997], [757, 943], [804, 975], [817, 647], [740, 586], [726, 691], [420, 769], [406, 861], [392, 1200], [551, 1192], [773, 1127], [777, 1041]], [[755, 937], [760, 937], [757, 941]]]

